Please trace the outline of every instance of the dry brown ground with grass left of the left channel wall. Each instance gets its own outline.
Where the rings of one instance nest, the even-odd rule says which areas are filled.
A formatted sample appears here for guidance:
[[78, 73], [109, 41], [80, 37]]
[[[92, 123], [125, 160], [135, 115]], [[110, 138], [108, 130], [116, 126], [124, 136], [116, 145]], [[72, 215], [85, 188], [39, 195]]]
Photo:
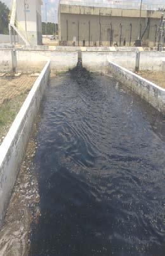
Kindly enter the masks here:
[[36, 77], [0, 77], [0, 145], [17, 116]]

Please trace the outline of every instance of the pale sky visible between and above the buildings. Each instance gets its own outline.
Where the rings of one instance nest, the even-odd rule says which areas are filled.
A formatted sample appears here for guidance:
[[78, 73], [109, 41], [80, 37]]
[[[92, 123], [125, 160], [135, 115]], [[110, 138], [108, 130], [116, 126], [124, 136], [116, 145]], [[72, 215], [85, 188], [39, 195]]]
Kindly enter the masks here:
[[[10, 7], [10, 3], [11, 0], [1, 0], [3, 3], [5, 3], [7, 6]], [[46, 20], [46, 8], [45, 6], [47, 6], [47, 20], [48, 22], [57, 22], [58, 18], [57, 18], [57, 13], [58, 13], [58, 1], [59, 0], [43, 0], [43, 7], [42, 7], [42, 20], [43, 22], [45, 22]], [[69, 0], [68, 0], [69, 1]], [[84, 0], [87, 1], [87, 0]], [[88, 0], [90, 3], [93, 0]], [[124, 1], [124, 0], [122, 0]], [[129, 0], [130, 1], [130, 0]], [[132, 0], [133, 2], [134, 0]], [[140, 0], [135, 0], [135, 2], [140, 2]], [[149, 4], [164, 4], [164, 0], [143, 0], [143, 3], [149, 3]]]

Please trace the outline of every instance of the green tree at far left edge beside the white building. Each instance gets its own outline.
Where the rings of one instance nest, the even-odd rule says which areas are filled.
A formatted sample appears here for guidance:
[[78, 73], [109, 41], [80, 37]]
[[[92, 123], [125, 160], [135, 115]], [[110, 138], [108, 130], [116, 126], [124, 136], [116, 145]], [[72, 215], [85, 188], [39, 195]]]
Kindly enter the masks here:
[[6, 6], [6, 4], [2, 3], [0, 1], [0, 34], [8, 34], [8, 16], [9, 16], [10, 10]]

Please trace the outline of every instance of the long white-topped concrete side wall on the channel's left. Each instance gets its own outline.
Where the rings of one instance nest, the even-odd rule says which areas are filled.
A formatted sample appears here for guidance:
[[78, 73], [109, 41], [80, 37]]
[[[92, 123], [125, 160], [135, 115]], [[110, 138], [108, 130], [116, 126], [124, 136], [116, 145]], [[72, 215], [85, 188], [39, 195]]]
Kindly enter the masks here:
[[25, 150], [32, 130], [32, 124], [39, 110], [44, 90], [48, 84], [50, 61], [29, 92], [25, 102], [0, 146], [0, 228], [17, 175], [25, 156]]

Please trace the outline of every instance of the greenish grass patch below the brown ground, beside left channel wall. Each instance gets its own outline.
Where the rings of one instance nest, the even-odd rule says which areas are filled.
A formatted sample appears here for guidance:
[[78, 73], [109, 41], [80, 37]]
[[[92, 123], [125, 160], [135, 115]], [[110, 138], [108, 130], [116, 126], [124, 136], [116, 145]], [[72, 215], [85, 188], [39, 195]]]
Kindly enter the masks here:
[[8, 133], [11, 124], [27, 97], [27, 93], [28, 92], [22, 93], [11, 100], [5, 100], [5, 102], [0, 105], [0, 142], [1, 137]]

